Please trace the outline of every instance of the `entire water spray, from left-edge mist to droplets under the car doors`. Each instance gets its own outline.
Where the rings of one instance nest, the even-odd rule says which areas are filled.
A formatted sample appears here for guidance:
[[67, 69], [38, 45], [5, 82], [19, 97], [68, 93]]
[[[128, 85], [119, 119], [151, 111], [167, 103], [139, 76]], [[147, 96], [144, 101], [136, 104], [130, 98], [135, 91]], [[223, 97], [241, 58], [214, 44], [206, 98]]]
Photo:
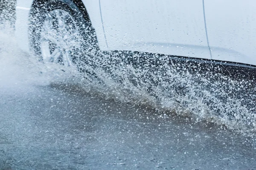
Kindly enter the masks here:
[[[32, 72], [23, 74], [25, 79], [29, 75], [29, 80], [37, 82], [75, 83], [107, 99], [150, 105], [159, 111], [191, 116], [196, 121], [214, 122], [242, 132], [256, 131], [255, 79], [223, 74], [226, 71], [218, 65], [168, 55], [90, 49], [85, 54], [91, 55], [81, 54], [86, 61], [78, 64], [81, 72], [68, 68], [63, 71], [58, 65], [38, 62], [39, 57], [34, 54], [11, 49], [16, 46], [15, 37], [10, 40], [9, 35], [0, 36], [1, 57], [12, 60], [9, 64], [2, 61], [2, 70], [15, 65], [19, 68], [12, 74], [25, 73], [24, 66], [29, 66]], [[38, 79], [42, 75], [44, 79]], [[1, 77], [3, 82], [4, 76]]]

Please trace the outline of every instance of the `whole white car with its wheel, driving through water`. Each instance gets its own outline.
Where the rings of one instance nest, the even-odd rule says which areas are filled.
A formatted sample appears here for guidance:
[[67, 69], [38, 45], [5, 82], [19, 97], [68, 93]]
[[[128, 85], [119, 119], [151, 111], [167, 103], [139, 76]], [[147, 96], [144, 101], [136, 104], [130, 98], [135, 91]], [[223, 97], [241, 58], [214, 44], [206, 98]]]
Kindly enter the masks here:
[[64, 65], [78, 48], [256, 65], [254, 0], [17, 0], [16, 14], [20, 47]]

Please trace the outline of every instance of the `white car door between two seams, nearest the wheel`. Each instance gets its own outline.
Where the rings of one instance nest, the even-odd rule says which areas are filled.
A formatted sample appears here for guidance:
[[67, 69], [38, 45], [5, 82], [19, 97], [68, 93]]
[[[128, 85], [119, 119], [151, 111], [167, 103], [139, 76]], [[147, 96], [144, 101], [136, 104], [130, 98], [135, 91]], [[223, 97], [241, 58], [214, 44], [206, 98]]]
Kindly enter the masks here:
[[210, 59], [202, 0], [100, 0], [108, 50]]

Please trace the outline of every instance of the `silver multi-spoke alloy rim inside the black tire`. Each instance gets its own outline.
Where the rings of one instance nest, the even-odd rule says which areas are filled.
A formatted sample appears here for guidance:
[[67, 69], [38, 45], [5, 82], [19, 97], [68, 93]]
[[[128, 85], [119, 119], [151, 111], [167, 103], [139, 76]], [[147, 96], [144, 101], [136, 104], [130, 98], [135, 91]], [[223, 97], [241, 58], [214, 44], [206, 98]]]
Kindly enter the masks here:
[[47, 14], [41, 29], [41, 54], [45, 63], [76, 67], [81, 40], [73, 17], [56, 9]]

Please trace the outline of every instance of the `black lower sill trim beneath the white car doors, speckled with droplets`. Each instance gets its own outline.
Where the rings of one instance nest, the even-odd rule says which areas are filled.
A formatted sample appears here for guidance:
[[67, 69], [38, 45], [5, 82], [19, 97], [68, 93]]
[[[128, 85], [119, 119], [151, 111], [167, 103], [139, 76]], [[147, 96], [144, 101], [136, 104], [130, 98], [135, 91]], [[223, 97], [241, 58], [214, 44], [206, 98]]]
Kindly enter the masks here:
[[174, 65], [177, 69], [186, 70], [200, 74], [222, 74], [233, 79], [256, 79], [256, 66], [238, 62], [228, 62], [213, 59], [199, 59], [192, 57], [180, 57], [165, 54], [152, 54], [137, 51], [104, 51], [112, 56], [125, 55], [125, 61], [133, 65], [143, 66], [145, 63], [153, 67], [164, 65]]

